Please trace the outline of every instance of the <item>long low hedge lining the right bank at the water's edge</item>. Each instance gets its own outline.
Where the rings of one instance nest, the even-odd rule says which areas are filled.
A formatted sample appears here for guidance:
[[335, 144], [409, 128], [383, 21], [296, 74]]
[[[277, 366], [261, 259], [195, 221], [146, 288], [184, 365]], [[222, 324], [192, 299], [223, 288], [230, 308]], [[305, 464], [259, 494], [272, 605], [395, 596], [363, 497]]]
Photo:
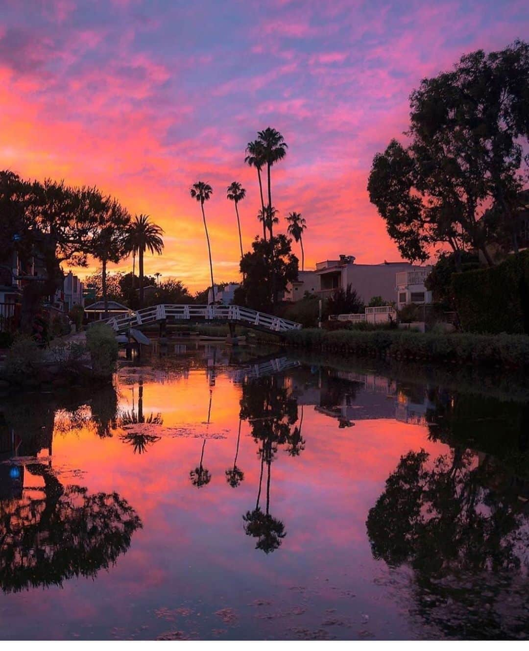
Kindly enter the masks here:
[[284, 333], [284, 342], [302, 348], [371, 357], [509, 367], [529, 365], [528, 335], [438, 334], [410, 330], [325, 331], [307, 328]]

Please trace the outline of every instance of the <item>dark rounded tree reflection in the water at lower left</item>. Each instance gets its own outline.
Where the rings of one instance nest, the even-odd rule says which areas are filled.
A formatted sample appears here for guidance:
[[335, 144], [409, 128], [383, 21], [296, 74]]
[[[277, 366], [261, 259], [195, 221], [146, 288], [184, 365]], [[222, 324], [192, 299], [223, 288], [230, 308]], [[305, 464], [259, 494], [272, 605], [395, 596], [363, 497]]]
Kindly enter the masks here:
[[27, 470], [44, 479], [44, 497], [34, 497], [32, 490], [21, 499], [0, 501], [4, 592], [95, 577], [127, 551], [142, 525], [117, 493], [90, 495], [80, 486], [64, 487], [47, 465], [27, 465]]

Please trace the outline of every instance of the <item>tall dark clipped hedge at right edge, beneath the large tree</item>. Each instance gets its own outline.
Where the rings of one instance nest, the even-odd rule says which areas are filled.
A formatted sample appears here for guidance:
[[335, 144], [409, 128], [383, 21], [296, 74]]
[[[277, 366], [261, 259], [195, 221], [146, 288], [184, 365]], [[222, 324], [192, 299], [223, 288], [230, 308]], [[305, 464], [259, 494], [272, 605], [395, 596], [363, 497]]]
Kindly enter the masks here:
[[461, 329], [529, 334], [529, 251], [487, 269], [452, 275]]

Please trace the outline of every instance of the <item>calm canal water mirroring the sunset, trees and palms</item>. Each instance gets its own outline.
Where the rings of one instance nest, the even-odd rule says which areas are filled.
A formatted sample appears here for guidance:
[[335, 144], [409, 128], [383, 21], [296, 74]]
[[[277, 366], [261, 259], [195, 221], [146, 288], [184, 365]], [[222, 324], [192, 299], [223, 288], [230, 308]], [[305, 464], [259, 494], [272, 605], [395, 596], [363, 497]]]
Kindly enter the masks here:
[[0, 455], [0, 639], [529, 637], [517, 381], [182, 341]]

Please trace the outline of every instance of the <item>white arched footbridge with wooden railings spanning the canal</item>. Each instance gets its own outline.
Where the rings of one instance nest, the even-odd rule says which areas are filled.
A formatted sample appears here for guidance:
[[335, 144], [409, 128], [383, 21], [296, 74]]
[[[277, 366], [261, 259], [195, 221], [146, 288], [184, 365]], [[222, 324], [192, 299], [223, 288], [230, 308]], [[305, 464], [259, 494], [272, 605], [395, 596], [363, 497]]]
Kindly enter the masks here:
[[115, 316], [107, 323], [116, 332], [124, 332], [131, 327], [150, 326], [161, 322], [176, 324], [183, 321], [237, 324], [277, 333], [301, 328], [301, 324], [293, 321], [239, 305], [154, 305], [123, 316]]

